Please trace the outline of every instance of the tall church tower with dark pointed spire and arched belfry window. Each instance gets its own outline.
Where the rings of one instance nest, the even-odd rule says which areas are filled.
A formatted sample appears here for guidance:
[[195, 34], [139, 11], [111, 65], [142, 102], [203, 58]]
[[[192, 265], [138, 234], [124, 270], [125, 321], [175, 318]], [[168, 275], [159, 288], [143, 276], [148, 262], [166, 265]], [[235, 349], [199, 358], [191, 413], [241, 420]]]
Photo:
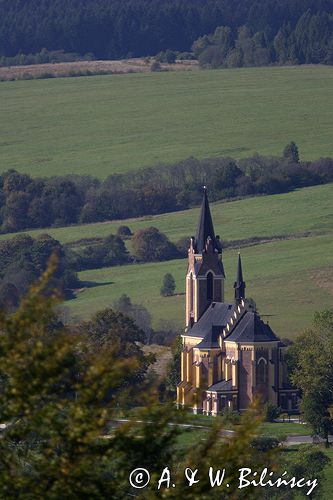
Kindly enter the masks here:
[[186, 327], [191, 328], [212, 302], [224, 301], [222, 246], [215, 236], [207, 190], [203, 200], [196, 236], [188, 250], [186, 275]]

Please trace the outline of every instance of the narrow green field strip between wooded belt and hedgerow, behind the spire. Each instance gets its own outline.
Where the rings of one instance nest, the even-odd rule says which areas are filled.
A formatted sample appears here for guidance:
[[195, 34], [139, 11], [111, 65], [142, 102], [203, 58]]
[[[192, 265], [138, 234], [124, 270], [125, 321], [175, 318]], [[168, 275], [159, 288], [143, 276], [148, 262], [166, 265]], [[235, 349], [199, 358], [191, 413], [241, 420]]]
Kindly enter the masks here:
[[[200, 208], [139, 219], [84, 224], [62, 228], [28, 231], [32, 236], [47, 232], [62, 243], [81, 238], [104, 237], [120, 225], [133, 232], [155, 226], [177, 241], [195, 233]], [[291, 193], [212, 203], [215, 231], [222, 240], [241, 240], [253, 236], [291, 236], [310, 231], [320, 234], [333, 231], [333, 184], [300, 189]], [[0, 240], [15, 233], [0, 235]]]

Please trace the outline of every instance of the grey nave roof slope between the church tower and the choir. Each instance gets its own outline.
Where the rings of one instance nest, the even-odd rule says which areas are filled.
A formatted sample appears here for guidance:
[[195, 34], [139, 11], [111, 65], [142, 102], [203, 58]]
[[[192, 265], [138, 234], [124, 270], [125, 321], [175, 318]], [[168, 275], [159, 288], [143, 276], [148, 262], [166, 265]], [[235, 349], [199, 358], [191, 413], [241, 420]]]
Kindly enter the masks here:
[[204, 339], [206, 335], [212, 332], [212, 328], [214, 327], [215, 331], [219, 330], [221, 333], [222, 329], [228, 323], [234, 307], [235, 306], [232, 304], [212, 302], [199, 321], [194, 323], [192, 328], [186, 332], [186, 335], [188, 337], [199, 337]]

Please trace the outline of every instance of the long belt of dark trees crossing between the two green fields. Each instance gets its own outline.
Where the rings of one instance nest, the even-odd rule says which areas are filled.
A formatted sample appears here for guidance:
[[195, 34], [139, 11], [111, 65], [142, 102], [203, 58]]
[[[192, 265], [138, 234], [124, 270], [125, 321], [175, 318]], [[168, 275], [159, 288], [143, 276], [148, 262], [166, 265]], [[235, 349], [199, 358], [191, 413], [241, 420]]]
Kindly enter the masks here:
[[127, 219], [184, 210], [198, 205], [203, 183], [212, 201], [261, 194], [333, 181], [333, 159], [300, 162], [294, 143], [281, 157], [255, 155], [187, 160], [100, 181], [91, 176], [32, 178], [9, 170], [0, 176], [0, 230]]

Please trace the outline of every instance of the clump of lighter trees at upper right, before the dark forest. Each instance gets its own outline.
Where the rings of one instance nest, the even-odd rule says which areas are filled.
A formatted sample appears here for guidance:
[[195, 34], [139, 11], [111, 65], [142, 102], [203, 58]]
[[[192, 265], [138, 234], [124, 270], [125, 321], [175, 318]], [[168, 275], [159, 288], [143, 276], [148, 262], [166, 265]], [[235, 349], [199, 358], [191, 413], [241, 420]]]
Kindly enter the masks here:
[[219, 26], [192, 45], [199, 63], [209, 68], [267, 66], [268, 64], [324, 63], [332, 60], [332, 16], [305, 12], [296, 26], [290, 22], [274, 32], [240, 26], [237, 35]]

